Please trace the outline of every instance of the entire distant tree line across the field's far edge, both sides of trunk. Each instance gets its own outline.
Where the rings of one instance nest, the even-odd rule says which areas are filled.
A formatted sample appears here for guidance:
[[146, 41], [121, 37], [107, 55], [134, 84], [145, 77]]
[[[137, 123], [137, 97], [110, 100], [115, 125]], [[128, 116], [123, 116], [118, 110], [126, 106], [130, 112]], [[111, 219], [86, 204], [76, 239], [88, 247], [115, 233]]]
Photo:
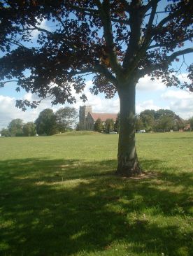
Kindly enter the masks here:
[[[36, 136], [38, 135], [53, 135], [66, 131], [71, 131], [74, 127], [79, 129], [77, 124], [76, 108], [59, 108], [55, 113], [50, 108], [39, 113], [35, 122], [27, 122], [24, 124], [21, 119], [12, 120], [7, 128], [0, 131], [1, 136]], [[179, 131], [185, 129], [187, 124], [190, 128], [187, 130], [193, 131], [193, 117], [189, 120], [183, 120], [173, 111], [169, 109], [145, 110], [139, 115], [136, 115], [136, 131]], [[102, 122], [97, 119], [94, 123], [94, 131], [109, 134], [111, 132], [119, 132], [119, 114], [117, 120], [107, 119]]]

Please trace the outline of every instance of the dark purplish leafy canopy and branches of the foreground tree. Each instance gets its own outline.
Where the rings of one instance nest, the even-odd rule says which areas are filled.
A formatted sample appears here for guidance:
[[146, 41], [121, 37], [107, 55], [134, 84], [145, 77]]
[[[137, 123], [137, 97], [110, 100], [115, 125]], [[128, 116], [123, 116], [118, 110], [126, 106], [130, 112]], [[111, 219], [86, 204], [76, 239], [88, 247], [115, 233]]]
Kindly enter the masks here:
[[[94, 94], [113, 97], [120, 84], [147, 75], [166, 85], [193, 91], [172, 69], [190, 54], [193, 3], [189, 0], [1, 0], [1, 87], [20, 87], [52, 97], [52, 104], [76, 101], [72, 88], [86, 100], [85, 75], [94, 73]], [[43, 26], [42, 24], [46, 24]], [[121, 83], [124, 82], [124, 83]], [[39, 102], [17, 101], [36, 107]]]

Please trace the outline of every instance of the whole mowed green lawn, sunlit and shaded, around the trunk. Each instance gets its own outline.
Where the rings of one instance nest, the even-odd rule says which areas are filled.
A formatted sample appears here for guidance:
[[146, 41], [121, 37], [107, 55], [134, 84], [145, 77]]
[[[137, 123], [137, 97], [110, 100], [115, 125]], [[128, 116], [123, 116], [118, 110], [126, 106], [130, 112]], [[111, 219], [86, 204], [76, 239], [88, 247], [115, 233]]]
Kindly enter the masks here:
[[193, 132], [137, 134], [141, 178], [117, 139], [0, 138], [0, 255], [191, 256]]

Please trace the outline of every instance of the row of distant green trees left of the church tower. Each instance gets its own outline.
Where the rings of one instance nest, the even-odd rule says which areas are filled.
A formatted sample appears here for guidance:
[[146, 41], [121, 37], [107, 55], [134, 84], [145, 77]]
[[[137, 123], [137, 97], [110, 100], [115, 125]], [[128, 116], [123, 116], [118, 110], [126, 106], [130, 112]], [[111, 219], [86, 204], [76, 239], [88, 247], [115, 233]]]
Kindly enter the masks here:
[[1, 136], [53, 135], [70, 131], [76, 126], [76, 108], [59, 108], [55, 113], [50, 108], [39, 113], [35, 122], [24, 124], [22, 119], [12, 120], [7, 128], [0, 131]]

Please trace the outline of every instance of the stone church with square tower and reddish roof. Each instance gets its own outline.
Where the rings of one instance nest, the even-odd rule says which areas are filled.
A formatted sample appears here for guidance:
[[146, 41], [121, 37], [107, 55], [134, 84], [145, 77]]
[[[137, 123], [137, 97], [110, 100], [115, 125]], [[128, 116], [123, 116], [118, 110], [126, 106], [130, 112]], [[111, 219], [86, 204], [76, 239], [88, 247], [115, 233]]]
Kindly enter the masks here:
[[113, 113], [92, 113], [92, 106], [80, 106], [79, 125], [80, 130], [93, 131], [94, 123], [100, 118], [104, 123], [107, 119], [113, 119], [116, 122], [117, 114]]

